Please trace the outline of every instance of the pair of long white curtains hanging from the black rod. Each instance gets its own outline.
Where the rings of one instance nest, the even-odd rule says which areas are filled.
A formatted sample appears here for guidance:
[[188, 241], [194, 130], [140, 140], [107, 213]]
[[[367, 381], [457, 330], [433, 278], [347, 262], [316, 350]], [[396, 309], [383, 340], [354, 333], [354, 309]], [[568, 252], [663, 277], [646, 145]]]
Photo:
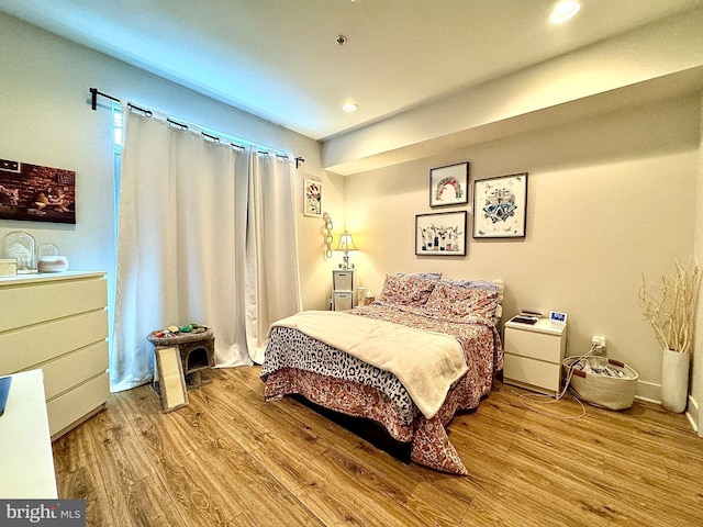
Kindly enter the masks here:
[[[211, 326], [220, 367], [260, 359], [258, 348], [249, 354], [247, 339], [263, 349], [270, 316], [287, 316], [300, 306], [297, 300], [286, 303], [291, 311], [271, 310], [276, 291], [260, 289], [278, 280], [266, 278], [269, 272], [288, 268], [289, 291], [300, 298], [294, 208], [266, 210], [292, 199], [292, 164], [204, 139], [192, 127], [169, 125], [157, 112], [150, 117], [123, 112], [112, 391], [153, 379], [154, 350], [146, 336], [172, 324]], [[258, 198], [254, 183], [270, 197]], [[264, 226], [253, 227], [253, 216], [257, 224], [265, 218]], [[274, 267], [258, 254], [267, 246], [252, 239], [259, 231], [292, 247]], [[280, 244], [272, 245], [278, 258]], [[247, 322], [249, 313], [256, 324]]]

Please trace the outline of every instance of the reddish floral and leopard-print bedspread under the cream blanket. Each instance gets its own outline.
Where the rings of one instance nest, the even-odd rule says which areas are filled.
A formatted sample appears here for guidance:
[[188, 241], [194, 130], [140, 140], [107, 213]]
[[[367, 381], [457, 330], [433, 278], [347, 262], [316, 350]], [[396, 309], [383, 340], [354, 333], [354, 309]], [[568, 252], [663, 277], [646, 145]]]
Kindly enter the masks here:
[[484, 317], [378, 301], [353, 313], [446, 333], [461, 343], [469, 371], [451, 388], [439, 412], [432, 419], [425, 418], [392, 373], [286, 327], [274, 328], [266, 350], [261, 368], [266, 400], [298, 393], [321, 406], [375, 419], [394, 439], [412, 444], [413, 461], [467, 474], [445, 426], [458, 410], [478, 406], [491, 389], [493, 373], [503, 368], [495, 326]]

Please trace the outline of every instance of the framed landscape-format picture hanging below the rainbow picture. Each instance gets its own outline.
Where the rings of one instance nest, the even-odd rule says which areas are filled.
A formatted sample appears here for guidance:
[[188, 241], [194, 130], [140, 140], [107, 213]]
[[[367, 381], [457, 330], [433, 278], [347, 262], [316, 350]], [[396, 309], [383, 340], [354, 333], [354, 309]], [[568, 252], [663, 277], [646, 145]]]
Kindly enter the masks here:
[[465, 256], [466, 211], [415, 215], [415, 255]]

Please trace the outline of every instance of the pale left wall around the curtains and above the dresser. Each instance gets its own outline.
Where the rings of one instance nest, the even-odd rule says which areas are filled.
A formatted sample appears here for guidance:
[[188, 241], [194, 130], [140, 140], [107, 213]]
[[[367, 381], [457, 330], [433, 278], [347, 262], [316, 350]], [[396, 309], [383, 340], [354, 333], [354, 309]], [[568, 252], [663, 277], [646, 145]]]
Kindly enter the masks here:
[[[302, 156], [301, 180], [303, 175], [330, 179], [321, 168], [317, 142], [3, 14], [0, 47], [0, 158], [75, 170], [77, 190], [76, 225], [0, 220], [0, 239], [8, 232], [26, 231], [37, 245], [56, 244], [75, 270], [108, 270], [112, 280], [115, 262], [111, 112], [104, 99], [91, 111], [91, 87]], [[341, 216], [342, 191], [335, 184], [325, 184], [325, 191], [326, 208]], [[327, 294], [317, 270], [324, 262], [319, 224], [322, 220], [300, 222], [301, 276], [311, 305], [321, 305]], [[315, 240], [320, 243], [313, 247]]]

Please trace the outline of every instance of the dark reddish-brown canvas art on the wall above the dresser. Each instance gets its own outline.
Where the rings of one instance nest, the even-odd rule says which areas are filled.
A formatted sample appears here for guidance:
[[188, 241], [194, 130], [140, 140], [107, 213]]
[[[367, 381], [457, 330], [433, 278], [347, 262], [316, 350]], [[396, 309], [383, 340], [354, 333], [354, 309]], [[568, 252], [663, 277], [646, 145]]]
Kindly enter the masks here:
[[0, 218], [76, 223], [76, 172], [0, 159]]

